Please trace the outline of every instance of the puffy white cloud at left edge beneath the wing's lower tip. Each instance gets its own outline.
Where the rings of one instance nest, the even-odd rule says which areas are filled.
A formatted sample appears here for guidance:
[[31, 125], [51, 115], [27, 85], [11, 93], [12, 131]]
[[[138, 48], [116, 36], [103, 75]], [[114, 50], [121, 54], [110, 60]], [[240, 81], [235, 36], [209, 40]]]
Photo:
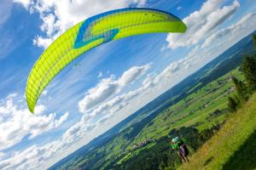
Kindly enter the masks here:
[[11, 94], [0, 103], [0, 150], [18, 144], [26, 135], [32, 139], [46, 133], [67, 120], [68, 113], [59, 119], [55, 118], [55, 113], [43, 115], [44, 105], [38, 105], [32, 115], [27, 109], [20, 108], [20, 103], [15, 104], [16, 96]]

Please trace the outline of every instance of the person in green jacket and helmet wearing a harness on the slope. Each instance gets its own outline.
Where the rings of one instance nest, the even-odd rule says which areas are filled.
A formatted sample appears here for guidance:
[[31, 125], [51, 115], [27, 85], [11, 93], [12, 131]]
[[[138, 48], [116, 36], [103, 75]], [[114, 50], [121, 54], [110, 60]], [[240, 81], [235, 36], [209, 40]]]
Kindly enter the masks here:
[[189, 150], [186, 144], [183, 143], [182, 139], [178, 137], [172, 139], [172, 149], [177, 150], [177, 156], [179, 156], [183, 162], [189, 161], [187, 158], [189, 155]]

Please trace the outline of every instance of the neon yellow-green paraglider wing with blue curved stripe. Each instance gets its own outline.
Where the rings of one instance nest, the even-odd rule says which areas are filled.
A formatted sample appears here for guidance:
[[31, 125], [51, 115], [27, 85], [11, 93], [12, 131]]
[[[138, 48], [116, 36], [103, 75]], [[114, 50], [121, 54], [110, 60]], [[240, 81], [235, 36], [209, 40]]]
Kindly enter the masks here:
[[123, 8], [97, 14], [71, 27], [49, 45], [33, 66], [26, 82], [31, 112], [49, 82], [73, 59], [102, 43], [154, 32], [184, 32], [176, 16], [150, 8]]

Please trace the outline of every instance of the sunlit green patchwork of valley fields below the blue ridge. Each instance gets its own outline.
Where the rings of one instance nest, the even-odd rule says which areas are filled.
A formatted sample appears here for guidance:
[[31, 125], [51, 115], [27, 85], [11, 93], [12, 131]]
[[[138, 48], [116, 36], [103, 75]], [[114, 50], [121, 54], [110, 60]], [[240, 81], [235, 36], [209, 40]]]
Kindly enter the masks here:
[[[223, 122], [228, 115], [226, 114], [228, 113], [227, 98], [233, 93], [230, 91], [233, 87], [229, 78], [230, 75], [243, 79], [239, 69], [236, 69], [210, 82], [207, 86], [189, 95], [176, 105], [167, 108], [149, 122], [146, 127], [143, 127], [128, 149], [131, 149], [133, 144], [138, 144], [145, 139], [160, 139], [167, 136], [173, 128], [194, 126], [199, 130], [204, 130], [212, 127], [214, 122]], [[216, 110], [221, 111], [222, 115], [209, 116]], [[142, 150], [148, 150], [148, 146], [140, 150], [129, 151], [118, 163], [121, 164], [131, 157], [139, 155]]]

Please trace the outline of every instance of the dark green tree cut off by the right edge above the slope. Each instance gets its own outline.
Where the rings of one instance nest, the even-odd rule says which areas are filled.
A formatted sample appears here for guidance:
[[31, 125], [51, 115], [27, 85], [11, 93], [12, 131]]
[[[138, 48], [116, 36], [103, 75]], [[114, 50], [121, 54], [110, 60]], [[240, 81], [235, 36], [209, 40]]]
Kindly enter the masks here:
[[[256, 40], [255, 40], [256, 41]], [[241, 70], [245, 76], [247, 86], [250, 91], [256, 90], [256, 57], [246, 55], [241, 65]]]

